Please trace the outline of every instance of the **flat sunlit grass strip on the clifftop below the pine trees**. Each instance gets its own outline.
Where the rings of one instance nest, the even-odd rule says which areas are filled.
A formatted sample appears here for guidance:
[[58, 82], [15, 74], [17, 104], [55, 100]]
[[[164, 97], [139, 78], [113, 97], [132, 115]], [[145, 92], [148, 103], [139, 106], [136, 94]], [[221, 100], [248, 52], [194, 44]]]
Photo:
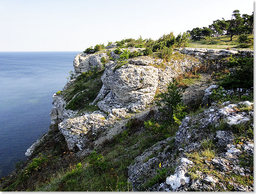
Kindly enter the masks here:
[[[253, 38], [253, 35], [249, 35], [249, 38]], [[229, 36], [223, 35], [220, 36], [221, 40], [230, 40]], [[238, 48], [237, 45], [239, 45], [238, 43], [238, 36], [236, 38], [234, 38], [231, 42], [224, 42], [218, 40], [217, 37], [212, 37], [209, 39], [201, 39], [201, 40], [189, 40], [188, 41], [188, 47], [191, 48], [208, 48], [208, 49], [227, 49], [227, 48]], [[253, 50], [252, 48], [246, 48], [246, 50]]]

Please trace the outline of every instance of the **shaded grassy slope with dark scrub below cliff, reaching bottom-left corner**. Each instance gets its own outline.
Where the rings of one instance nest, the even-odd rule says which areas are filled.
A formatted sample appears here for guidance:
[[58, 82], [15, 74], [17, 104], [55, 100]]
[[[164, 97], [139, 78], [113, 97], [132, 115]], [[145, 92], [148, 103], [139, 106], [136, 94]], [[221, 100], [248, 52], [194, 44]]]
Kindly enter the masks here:
[[[14, 180], [1, 189], [5, 191], [128, 191], [131, 185], [128, 182], [127, 167], [133, 163], [135, 157], [157, 142], [147, 131], [138, 133], [138, 129], [142, 126], [142, 121], [131, 119], [126, 126], [129, 131], [127, 138], [120, 141], [121, 136], [117, 135], [112, 141], [105, 142], [96, 150], [102, 157], [94, 163], [90, 157], [64, 160], [64, 156], [70, 156], [70, 154], [63, 154], [68, 150], [59, 148], [60, 151], [56, 153], [53, 149], [58, 146], [53, 145], [52, 150], [47, 149], [43, 152], [43, 157], [47, 160], [43, 160], [33, 168], [33, 173], [31, 175], [29, 173], [26, 182], [23, 181], [23, 184], [20, 184], [20, 176], [12, 177]], [[54, 141], [53, 139], [49, 137], [49, 141]], [[64, 139], [60, 141], [65, 142]], [[57, 142], [61, 144], [59, 140]], [[39, 151], [45, 149], [47, 144], [49, 145], [49, 142], [40, 145]], [[33, 162], [31, 160], [28, 166]], [[60, 164], [63, 168], [59, 166]], [[41, 177], [38, 177], [40, 175]]]

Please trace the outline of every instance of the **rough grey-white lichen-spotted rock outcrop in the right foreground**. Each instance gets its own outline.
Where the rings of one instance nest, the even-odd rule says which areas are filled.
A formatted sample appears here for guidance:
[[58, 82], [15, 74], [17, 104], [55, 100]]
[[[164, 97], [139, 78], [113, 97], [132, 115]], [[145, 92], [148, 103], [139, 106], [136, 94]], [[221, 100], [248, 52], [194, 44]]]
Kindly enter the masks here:
[[[208, 90], [213, 88], [215, 87], [210, 86]], [[165, 182], [153, 185], [147, 189], [148, 191], [215, 191], [216, 188], [227, 190], [227, 182], [221, 181], [221, 176], [229, 177], [233, 174], [250, 176], [252, 172], [249, 167], [241, 167], [240, 164], [242, 155], [253, 157], [254, 144], [251, 140], [234, 144], [236, 137], [230, 129], [232, 125], [253, 120], [252, 110], [246, 113], [239, 112], [237, 109], [241, 106], [250, 107], [253, 104], [247, 101], [224, 104], [222, 107], [211, 106], [195, 116], [186, 116], [176, 132], [175, 140], [169, 138], [158, 142], [138, 156], [135, 164], [128, 167], [129, 180], [132, 182], [134, 191], [143, 190], [146, 177], [159, 176], [159, 170], [163, 168], [169, 169], [170, 172], [171, 166], [176, 166], [173, 175], [168, 176]], [[192, 154], [199, 154], [198, 151], [204, 149], [202, 142], [207, 141], [216, 142], [215, 149], [218, 150], [218, 156], [213, 154], [212, 159], [206, 159], [198, 155], [195, 156], [198, 157], [196, 163], [191, 161], [191, 159], [195, 160]], [[179, 157], [176, 156], [177, 151]], [[153, 157], [147, 159], [149, 156]], [[214, 173], [209, 173], [211, 171], [204, 170], [200, 165], [203, 165], [203, 168], [207, 166]], [[197, 169], [197, 171], [191, 171], [191, 169]], [[242, 183], [231, 182], [231, 180], [232, 178], [228, 184], [232, 185], [236, 191], [253, 191], [252, 185], [244, 186]]]

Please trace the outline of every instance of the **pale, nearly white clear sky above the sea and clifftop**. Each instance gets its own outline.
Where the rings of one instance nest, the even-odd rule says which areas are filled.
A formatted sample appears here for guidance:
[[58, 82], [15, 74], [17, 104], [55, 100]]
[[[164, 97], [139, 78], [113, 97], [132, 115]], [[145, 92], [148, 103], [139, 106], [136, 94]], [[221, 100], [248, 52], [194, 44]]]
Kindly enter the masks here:
[[253, 0], [0, 0], [0, 51], [83, 51], [123, 38], [158, 39], [232, 12]]

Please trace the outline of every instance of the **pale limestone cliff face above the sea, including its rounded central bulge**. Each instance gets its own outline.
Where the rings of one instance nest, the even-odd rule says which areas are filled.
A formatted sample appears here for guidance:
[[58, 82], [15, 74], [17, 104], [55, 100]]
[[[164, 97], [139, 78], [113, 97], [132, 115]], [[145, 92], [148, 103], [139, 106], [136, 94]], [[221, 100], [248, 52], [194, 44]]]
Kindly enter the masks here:
[[[128, 50], [133, 52], [141, 49]], [[110, 52], [112, 57], [119, 56], [113, 52], [113, 49], [106, 52]], [[103, 57], [109, 58], [106, 53], [77, 54], [73, 62], [74, 79], [63, 88], [67, 90], [82, 72], [94, 71], [95, 68], [97, 71], [104, 69], [101, 76], [103, 85], [96, 99], [91, 103], [97, 105], [101, 111], [78, 116], [78, 111], [65, 109], [69, 102], [65, 101], [63, 95], [53, 95], [51, 123], [59, 123], [59, 130], [65, 136], [68, 147], [70, 149], [77, 147], [81, 153], [92, 150], [94, 147], [87, 147], [88, 142], [90, 145], [96, 143], [99, 134], [108, 133], [109, 126], [118, 122], [118, 119], [128, 118], [150, 106], [156, 92], [163, 91], [172, 78], [200, 64], [197, 60], [184, 57], [179, 62], [168, 62], [164, 68], [157, 68], [163, 63], [162, 59], [141, 56], [132, 58], [125, 65], [118, 67], [120, 62], [117, 61], [109, 61], [103, 65], [101, 62]]]

